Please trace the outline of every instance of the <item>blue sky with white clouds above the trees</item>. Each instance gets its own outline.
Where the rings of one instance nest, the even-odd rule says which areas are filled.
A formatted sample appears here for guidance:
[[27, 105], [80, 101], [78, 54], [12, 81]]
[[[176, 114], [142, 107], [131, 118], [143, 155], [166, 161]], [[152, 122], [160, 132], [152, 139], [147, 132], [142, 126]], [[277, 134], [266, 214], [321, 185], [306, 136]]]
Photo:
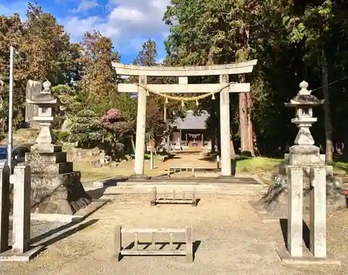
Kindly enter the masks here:
[[[122, 63], [132, 63], [148, 38], [157, 42], [158, 61], [166, 55], [164, 40], [168, 26], [162, 22], [171, 0], [36, 0], [65, 26], [73, 42], [80, 42], [86, 31], [99, 30], [112, 39]], [[34, 1], [33, 1], [34, 2]], [[17, 12], [25, 18], [27, 0], [0, 0], [0, 14]]]

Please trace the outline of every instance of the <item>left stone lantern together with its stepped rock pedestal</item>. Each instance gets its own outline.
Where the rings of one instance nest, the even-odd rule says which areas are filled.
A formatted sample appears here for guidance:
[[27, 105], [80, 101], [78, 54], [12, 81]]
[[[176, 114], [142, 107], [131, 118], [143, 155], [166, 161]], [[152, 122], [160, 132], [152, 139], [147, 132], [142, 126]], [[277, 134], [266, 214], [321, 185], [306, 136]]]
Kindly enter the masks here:
[[44, 89], [26, 99], [38, 107], [38, 116], [33, 120], [40, 125], [40, 133], [25, 162], [31, 166], [31, 212], [49, 214], [74, 214], [92, 202], [81, 184], [80, 172], [73, 171], [72, 162], [67, 162], [67, 153], [56, 145], [52, 131], [54, 107], [58, 100], [46, 81]]

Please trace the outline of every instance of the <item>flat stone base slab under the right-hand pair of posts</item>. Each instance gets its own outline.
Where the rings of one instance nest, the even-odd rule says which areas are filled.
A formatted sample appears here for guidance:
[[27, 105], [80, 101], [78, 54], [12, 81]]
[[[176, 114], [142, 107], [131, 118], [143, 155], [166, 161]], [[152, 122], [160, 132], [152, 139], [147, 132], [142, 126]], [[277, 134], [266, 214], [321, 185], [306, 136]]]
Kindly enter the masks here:
[[285, 247], [276, 249], [280, 260], [294, 265], [340, 265], [340, 260], [335, 260], [331, 255], [326, 258], [314, 257], [308, 249], [303, 249], [302, 257], [292, 257]]

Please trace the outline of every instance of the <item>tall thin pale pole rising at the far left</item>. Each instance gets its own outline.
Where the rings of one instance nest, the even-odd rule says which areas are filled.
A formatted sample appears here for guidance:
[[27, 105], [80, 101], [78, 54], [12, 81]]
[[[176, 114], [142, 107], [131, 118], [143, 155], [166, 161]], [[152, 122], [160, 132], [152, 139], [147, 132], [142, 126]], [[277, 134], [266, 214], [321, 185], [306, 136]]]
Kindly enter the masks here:
[[10, 93], [8, 99], [8, 152], [7, 152], [7, 162], [10, 167], [12, 167], [12, 150], [13, 150], [13, 72], [15, 64], [15, 48], [10, 47]]

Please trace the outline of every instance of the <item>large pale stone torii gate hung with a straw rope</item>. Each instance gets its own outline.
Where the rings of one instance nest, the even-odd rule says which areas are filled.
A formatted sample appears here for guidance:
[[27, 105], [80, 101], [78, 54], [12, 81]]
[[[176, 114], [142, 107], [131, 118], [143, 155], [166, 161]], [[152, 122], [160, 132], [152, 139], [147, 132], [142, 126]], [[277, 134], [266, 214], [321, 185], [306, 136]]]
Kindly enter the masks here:
[[[149, 67], [113, 63], [116, 73], [126, 76], [138, 76], [137, 84], [118, 84], [120, 93], [138, 93], [136, 117], [136, 148], [134, 176], [144, 177], [145, 125], [146, 125], [146, 90], [156, 93], [216, 93], [220, 91], [220, 132], [221, 132], [221, 176], [230, 177], [230, 97], [229, 93], [250, 91], [249, 83], [231, 83], [229, 74], [246, 74], [253, 71], [257, 60], [241, 63], [188, 67]], [[188, 84], [188, 77], [219, 75], [220, 84]], [[148, 84], [148, 77], [178, 77], [179, 84]], [[144, 88], [145, 87], [145, 88]]]

